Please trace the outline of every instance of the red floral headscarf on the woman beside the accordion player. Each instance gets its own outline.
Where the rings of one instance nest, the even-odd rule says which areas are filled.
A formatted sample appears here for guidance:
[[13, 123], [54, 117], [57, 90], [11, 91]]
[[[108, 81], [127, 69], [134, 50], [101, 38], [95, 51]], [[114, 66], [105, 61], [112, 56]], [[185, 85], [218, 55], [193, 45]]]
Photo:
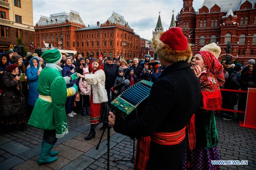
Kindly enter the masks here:
[[225, 83], [224, 73], [222, 66], [218, 59], [209, 51], [199, 51], [197, 54], [200, 54], [206, 65], [205, 71], [209, 71], [212, 75], [218, 80], [218, 84], [222, 86]]

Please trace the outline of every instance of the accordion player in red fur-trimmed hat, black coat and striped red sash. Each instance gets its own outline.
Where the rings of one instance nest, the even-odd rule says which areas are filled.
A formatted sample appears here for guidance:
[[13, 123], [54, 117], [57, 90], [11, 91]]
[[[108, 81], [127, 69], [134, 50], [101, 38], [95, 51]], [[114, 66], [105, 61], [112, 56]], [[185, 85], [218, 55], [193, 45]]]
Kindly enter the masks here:
[[109, 124], [137, 138], [135, 169], [182, 169], [187, 141], [195, 144], [193, 127], [186, 127], [199, 109], [201, 86], [190, 69], [191, 47], [179, 27], [155, 35], [152, 47], [164, 71], [152, 85], [144, 112], [129, 121], [115, 120], [110, 112]]

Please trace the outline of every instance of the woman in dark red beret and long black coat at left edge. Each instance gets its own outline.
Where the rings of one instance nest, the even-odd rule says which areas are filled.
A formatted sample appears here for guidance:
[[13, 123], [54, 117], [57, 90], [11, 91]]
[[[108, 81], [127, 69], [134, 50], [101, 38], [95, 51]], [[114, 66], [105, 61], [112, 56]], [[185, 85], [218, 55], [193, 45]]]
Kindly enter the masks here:
[[3, 73], [1, 80], [3, 91], [0, 95], [0, 122], [11, 131], [16, 124], [21, 125], [25, 131], [25, 122], [28, 121], [26, 114], [26, 99], [24, 88], [20, 82], [18, 65], [10, 64]]

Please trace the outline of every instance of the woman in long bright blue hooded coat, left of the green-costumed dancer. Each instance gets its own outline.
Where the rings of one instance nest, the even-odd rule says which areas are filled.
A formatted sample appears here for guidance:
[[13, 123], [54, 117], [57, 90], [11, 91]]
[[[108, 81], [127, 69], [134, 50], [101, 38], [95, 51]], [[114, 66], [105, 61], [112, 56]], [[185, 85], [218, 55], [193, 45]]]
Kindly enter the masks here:
[[[30, 68], [27, 69], [28, 76], [28, 116], [30, 117], [36, 100], [38, 98], [37, 82], [41, 70], [39, 70], [39, 60], [36, 57], [30, 59]], [[42, 67], [41, 67], [42, 68]]]

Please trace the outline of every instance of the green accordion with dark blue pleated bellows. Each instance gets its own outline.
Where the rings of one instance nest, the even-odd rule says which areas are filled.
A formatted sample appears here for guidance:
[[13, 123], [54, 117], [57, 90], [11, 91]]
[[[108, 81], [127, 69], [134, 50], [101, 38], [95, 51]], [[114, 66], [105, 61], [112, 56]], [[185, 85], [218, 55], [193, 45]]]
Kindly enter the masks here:
[[119, 114], [123, 120], [138, 118], [144, 111], [152, 84], [141, 80], [127, 88], [111, 102], [113, 113]]

